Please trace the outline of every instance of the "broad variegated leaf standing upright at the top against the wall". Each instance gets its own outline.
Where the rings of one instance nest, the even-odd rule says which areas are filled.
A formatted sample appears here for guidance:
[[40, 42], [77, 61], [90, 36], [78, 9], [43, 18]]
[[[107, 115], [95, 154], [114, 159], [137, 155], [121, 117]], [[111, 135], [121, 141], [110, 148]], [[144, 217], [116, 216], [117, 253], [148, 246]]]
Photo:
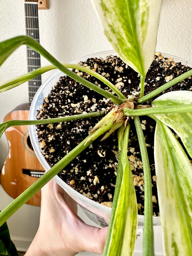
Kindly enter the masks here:
[[157, 42], [162, 0], [92, 0], [120, 58], [145, 78]]

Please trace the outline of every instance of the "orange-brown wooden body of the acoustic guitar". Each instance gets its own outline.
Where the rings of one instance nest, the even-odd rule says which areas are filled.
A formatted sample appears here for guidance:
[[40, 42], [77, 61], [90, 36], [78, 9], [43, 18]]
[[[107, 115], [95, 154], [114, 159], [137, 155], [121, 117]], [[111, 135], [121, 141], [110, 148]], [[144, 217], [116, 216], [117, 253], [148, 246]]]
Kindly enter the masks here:
[[[29, 110], [15, 110], [6, 116], [4, 121], [27, 120], [28, 116]], [[9, 153], [1, 171], [1, 185], [5, 192], [15, 199], [45, 170], [30, 147], [27, 125], [10, 127], [5, 134], [9, 143]], [[40, 206], [41, 191], [38, 191], [27, 204]]]

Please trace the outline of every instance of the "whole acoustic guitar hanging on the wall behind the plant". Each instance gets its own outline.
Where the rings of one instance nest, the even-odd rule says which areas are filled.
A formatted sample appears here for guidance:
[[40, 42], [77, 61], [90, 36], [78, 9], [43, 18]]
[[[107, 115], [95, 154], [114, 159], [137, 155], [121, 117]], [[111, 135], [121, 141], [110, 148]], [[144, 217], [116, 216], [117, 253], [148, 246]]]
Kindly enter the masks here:
[[[45, 8], [44, 0], [41, 0], [42, 8]], [[25, 1], [26, 34], [39, 42], [38, 26], [38, 0]], [[40, 67], [39, 53], [27, 47], [27, 69], [28, 72]], [[41, 76], [29, 81], [29, 103], [18, 106], [11, 113], [7, 114], [4, 121], [27, 120], [29, 107], [35, 93], [41, 85]], [[25, 189], [30, 187], [45, 170], [38, 161], [29, 138], [29, 131], [26, 125], [10, 127], [5, 131], [9, 144], [9, 153], [1, 171], [1, 185], [5, 192], [12, 198], [18, 197]], [[27, 204], [34, 206], [41, 205], [41, 191], [38, 191]]]

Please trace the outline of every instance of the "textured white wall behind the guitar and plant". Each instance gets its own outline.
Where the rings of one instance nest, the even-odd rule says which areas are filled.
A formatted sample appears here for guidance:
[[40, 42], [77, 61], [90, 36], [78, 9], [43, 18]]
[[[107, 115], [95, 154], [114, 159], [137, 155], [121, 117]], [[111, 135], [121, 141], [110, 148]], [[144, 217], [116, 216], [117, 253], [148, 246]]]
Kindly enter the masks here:
[[[112, 49], [102, 33], [90, 0], [49, 0], [49, 10], [39, 10], [39, 36], [41, 44], [59, 61], [69, 62], [81, 56]], [[0, 1], [0, 41], [25, 34], [24, 1]], [[191, 0], [163, 0], [158, 32], [157, 50], [192, 61], [192, 4]], [[27, 72], [26, 46], [21, 46], [0, 68], [0, 81]], [[41, 58], [41, 65], [48, 61]], [[44, 81], [49, 74], [43, 75]], [[0, 94], [0, 123], [7, 113], [28, 101], [27, 83]], [[5, 136], [0, 140], [0, 169], [7, 156]], [[11, 199], [0, 193], [2, 209]], [[31, 217], [20, 221], [21, 212]], [[22, 211], [10, 218], [12, 236], [25, 236], [29, 240], [38, 227], [39, 208], [23, 206]], [[33, 227], [33, 229], [31, 229]], [[31, 231], [30, 231], [31, 230]]]

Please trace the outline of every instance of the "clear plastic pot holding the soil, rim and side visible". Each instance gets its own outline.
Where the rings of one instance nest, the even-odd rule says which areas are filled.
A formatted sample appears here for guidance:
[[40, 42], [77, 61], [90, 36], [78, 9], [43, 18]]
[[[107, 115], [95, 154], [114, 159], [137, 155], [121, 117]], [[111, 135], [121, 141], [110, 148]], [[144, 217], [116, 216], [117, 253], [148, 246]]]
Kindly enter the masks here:
[[[78, 60], [75, 60], [71, 63], [77, 64], [79, 61], [85, 61], [88, 58], [91, 57], [102, 57], [105, 59], [105, 57], [109, 56], [110, 54], [117, 55], [114, 51], [107, 51], [107, 52], [100, 52], [95, 53], [89, 56], [84, 56]], [[186, 64], [186, 60], [179, 59], [174, 56], [170, 56], [167, 54], [163, 54], [165, 57], [173, 57], [175, 61], [181, 61], [182, 64]], [[187, 63], [191, 66], [190, 63]], [[39, 87], [37, 93], [35, 94], [33, 98], [33, 102], [31, 103], [31, 108], [29, 112], [29, 120], [35, 120], [37, 115], [37, 110], [40, 109], [40, 105], [42, 105], [43, 99], [50, 93], [52, 87], [54, 84], [59, 80], [60, 76], [63, 76], [64, 74], [56, 70], [56, 72], [50, 76], [42, 85]], [[35, 125], [29, 126], [29, 134], [31, 143], [33, 146], [33, 149], [35, 151], [35, 154], [37, 155], [39, 161], [41, 162], [42, 166], [45, 168], [45, 170], [49, 170], [50, 166], [46, 162], [44, 156], [41, 153], [41, 148], [38, 143], [37, 133], [36, 133], [36, 127]], [[71, 188], [69, 185], [67, 185], [61, 178], [58, 176], [54, 177], [54, 180], [79, 204], [79, 206], [82, 208], [82, 210], [85, 212], [87, 217], [91, 219], [91, 221], [94, 221], [97, 225], [104, 227], [109, 224], [110, 214], [111, 214], [111, 208], [104, 206], [102, 204], [99, 204], [97, 202], [94, 202], [93, 200], [83, 196], [81, 193], [78, 193], [73, 188]], [[144, 225], [144, 216], [138, 215], [138, 226]], [[153, 225], [160, 225], [160, 218], [159, 217], [153, 217]]]

